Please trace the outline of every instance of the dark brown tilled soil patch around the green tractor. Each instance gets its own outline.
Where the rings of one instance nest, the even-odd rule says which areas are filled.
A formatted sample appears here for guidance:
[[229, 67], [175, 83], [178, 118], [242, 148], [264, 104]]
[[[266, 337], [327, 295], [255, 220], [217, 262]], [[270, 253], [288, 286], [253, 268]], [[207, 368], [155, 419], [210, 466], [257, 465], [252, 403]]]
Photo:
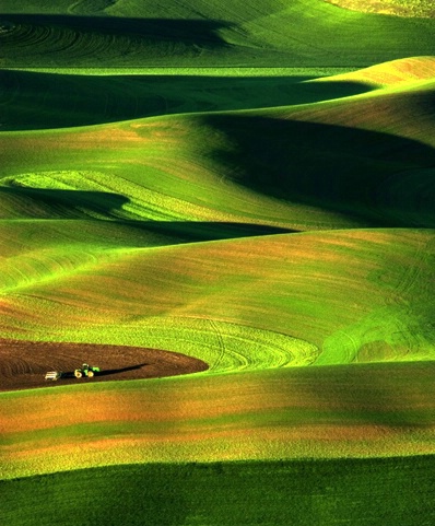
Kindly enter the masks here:
[[[75, 378], [73, 371], [82, 363], [98, 366], [101, 373], [93, 378]], [[157, 349], [0, 339], [0, 390], [158, 378], [208, 369], [196, 358]], [[56, 382], [46, 381], [48, 371], [61, 371], [63, 375]]]

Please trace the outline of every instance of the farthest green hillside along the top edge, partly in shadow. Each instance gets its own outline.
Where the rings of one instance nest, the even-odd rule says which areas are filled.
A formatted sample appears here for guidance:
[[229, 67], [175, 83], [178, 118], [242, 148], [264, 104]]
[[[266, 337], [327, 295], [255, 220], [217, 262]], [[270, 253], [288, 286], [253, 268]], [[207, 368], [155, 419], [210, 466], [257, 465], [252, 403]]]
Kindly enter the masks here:
[[3, 2], [3, 67], [361, 67], [433, 52], [432, 19], [324, 0]]

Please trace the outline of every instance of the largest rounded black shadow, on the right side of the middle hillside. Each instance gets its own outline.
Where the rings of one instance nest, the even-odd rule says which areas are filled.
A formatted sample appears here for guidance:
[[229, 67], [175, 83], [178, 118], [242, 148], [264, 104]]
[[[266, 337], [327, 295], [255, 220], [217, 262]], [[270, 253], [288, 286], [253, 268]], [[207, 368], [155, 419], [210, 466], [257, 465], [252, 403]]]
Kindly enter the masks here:
[[209, 155], [242, 186], [364, 226], [435, 226], [427, 198], [435, 192], [435, 150], [426, 144], [284, 117], [216, 114], [202, 121], [226, 136], [231, 145]]

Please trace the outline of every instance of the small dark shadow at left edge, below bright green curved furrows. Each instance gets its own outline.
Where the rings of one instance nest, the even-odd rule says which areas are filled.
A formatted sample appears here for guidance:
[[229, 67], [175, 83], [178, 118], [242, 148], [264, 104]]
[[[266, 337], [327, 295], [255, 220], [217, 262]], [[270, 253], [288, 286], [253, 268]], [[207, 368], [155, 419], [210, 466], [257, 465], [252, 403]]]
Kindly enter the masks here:
[[[129, 199], [107, 191], [58, 190], [30, 187], [0, 187], [0, 203], [13, 210], [13, 217], [32, 219], [64, 219], [111, 217]], [[1, 213], [0, 213], [1, 215]], [[3, 217], [1, 219], [8, 219]]]

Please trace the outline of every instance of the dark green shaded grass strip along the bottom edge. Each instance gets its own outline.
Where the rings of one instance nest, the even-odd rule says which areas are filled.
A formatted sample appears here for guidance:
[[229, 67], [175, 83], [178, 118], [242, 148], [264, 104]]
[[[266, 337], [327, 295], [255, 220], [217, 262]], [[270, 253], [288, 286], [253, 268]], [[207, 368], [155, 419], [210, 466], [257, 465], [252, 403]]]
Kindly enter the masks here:
[[3, 526], [432, 526], [435, 457], [133, 465], [0, 483]]

